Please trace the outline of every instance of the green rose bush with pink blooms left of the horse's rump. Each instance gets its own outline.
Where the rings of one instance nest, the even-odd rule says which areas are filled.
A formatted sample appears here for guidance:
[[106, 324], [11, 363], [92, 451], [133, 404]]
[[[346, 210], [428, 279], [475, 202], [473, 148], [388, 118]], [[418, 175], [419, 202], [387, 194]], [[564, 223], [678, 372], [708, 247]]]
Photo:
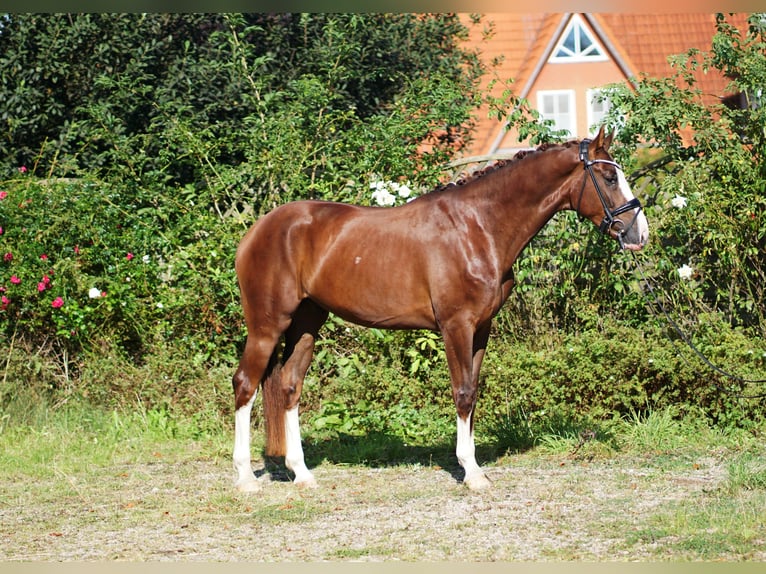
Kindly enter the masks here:
[[106, 342], [139, 360], [166, 340], [191, 360], [235, 354], [237, 237], [207, 209], [86, 180], [19, 179], [2, 193], [6, 340], [71, 354]]

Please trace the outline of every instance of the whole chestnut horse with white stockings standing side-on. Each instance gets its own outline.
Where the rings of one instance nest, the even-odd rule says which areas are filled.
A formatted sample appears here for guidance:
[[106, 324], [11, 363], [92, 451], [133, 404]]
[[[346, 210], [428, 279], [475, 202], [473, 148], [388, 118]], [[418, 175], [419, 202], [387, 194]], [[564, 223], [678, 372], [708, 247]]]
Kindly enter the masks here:
[[260, 385], [266, 453], [285, 457], [296, 484], [316, 485], [303, 458], [298, 401], [329, 312], [364, 326], [441, 332], [464, 483], [488, 486], [474, 454], [472, 415], [490, 323], [514, 284], [513, 262], [563, 209], [623, 248], [648, 240], [641, 204], [608, 153], [611, 141], [602, 128], [593, 141], [543, 145], [399, 207], [296, 201], [260, 218], [236, 257], [247, 323], [233, 378], [237, 488], [260, 488], [250, 464]]

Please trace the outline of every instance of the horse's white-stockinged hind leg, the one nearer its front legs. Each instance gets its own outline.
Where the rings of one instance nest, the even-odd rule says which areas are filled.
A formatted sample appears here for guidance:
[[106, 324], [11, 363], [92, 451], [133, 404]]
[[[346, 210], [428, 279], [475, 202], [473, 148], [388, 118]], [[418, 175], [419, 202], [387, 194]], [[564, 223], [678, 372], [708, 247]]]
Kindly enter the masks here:
[[327, 311], [315, 303], [304, 300], [285, 333], [284, 365], [280, 387], [284, 401], [285, 466], [295, 475], [295, 484], [315, 487], [314, 475], [306, 466], [301, 445], [299, 403], [317, 333], [327, 319]]

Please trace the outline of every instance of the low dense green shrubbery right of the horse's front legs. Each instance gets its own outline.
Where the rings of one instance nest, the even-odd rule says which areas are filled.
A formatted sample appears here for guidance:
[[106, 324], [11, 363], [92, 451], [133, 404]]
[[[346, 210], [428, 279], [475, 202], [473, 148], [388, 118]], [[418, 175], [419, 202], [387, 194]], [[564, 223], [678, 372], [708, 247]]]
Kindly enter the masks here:
[[[766, 346], [729, 327], [718, 315], [704, 318], [696, 345], [743, 376], [766, 367]], [[490, 420], [526, 412], [582, 417], [625, 417], [677, 407], [679, 415], [704, 412], [722, 425], [763, 420], [763, 402], [746, 400], [752, 387], [711, 372], [666, 325], [640, 328], [604, 319], [600, 329], [556, 333], [535, 341], [498, 341], [487, 353], [480, 412]]]

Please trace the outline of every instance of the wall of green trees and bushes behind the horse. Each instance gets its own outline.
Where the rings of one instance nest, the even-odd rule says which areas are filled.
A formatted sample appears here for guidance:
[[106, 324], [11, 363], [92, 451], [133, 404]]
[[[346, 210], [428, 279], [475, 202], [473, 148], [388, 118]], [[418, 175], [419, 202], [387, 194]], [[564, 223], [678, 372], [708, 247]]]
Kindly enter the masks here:
[[[608, 122], [652, 228], [647, 277], [714, 361], [762, 378], [760, 22], [742, 34], [721, 16], [713, 50], [675, 56], [675, 77], [613, 86]], [[370, 203], [380, 181], [427, 192], [453, 175], [482, 102], [534, 141], [556, 137], [512, 92], [481, 92], [488, 70], [460, 47], [466, 32], [453, 15], [7, 15], [2, 416], [85, 402], [221, 424], [245, 334], [233, 257], [259, 215], [304, 198]], [[752, 105], [703, 103], [696, 67], [728, 74]], [[720, 390], [754, 389], [679, 345], [633, 260], [574, 214], [533, 240], [516, 275], [483, 371], [490, 431], [668, 405], [761, 420], [763, 400]], [[303, 404], [317, 437], [427, 442], [452, 432], [448, 388], [435, 334], [332, 318]]]

